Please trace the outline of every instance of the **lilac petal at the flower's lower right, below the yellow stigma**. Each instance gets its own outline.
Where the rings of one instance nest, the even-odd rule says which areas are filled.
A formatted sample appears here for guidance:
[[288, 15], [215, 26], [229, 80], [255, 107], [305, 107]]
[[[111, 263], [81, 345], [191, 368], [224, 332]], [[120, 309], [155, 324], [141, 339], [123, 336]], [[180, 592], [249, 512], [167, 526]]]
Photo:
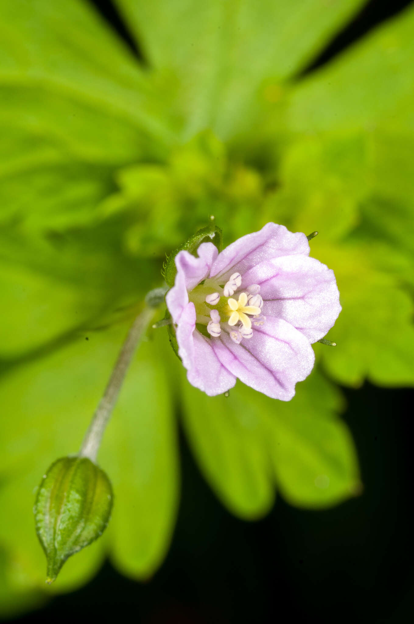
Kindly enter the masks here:
[[279, 318], [268, 318], [254, 328], [253, 338], [241, 344], [222, 331], [212, 346], [221, 363], [243, 383], [281, 401], [290, 401], [295, 384], [309, 375], [315, 361], [306, 336]]

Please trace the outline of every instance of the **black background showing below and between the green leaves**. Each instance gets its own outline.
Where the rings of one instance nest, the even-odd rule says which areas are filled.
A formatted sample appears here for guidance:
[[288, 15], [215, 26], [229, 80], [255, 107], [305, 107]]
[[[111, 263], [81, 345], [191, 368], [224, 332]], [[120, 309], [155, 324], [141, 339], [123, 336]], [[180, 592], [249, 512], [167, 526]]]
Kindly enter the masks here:
[[[94, 4], [146, 62], [112, 3]], [[408, 4], [368, 2], [302, 73], [329, 62]], [[89, 585], [14, 621], [412, 622], [414, 393], [370, 384], [344, 392], [344, 420], [357, 445], [364, 484], [360, 497], [327, 511], [294, 509], [279, 498], [266, 519], [243, 522], [219, 504], [181, 437], [180, 513], [170, 552], [155, 577], [135, 583], [105, 563]]]

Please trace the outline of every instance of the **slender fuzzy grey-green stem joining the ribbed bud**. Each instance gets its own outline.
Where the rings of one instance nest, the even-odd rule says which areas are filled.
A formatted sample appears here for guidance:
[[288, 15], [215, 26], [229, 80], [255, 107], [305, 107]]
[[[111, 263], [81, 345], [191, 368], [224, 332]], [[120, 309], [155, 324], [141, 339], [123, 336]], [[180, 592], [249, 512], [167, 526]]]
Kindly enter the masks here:
[[89, 457], [90, 461], [95, 462], [103, 431], [105, 431], [105, 427], [108, 424], [115, 403], [117, 402], [118, 394], [122, 387], [125, 374], [127, 374], [128, 366], [154, 314], [154, 307], [145, 307], [143, 311], [138, 314], [128, 331], [127, 338], [125, 338], [125, 342], [122, 345], [117, 363], [113, 368], [105, 392], [103, 392], [102, 399], [99, 401], [94, 417], [85, 434], [82, 447], [80, 447], [79, 457]]

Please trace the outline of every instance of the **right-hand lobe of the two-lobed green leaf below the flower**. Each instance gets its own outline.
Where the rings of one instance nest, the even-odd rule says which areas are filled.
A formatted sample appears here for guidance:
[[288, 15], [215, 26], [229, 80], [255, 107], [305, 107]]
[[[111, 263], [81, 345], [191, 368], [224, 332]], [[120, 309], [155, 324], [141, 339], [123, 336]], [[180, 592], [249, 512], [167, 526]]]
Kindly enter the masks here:
[[[326, 347], [325, 347], [326, 348]], [[276, 487], [306, 509], [332, 507], [361, 491], [354, 443], [337, 414], [342, 396], [317, 370], [291, 401], [274, 401], [240, 385], [244, 411], [262, 421]]]

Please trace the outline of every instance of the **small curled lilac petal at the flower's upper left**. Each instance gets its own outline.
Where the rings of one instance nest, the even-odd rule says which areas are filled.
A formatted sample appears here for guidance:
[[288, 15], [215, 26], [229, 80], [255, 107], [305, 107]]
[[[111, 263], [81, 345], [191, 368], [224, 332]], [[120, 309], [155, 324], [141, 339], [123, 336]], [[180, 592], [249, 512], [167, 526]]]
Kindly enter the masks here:
[[188, 303], [188, 291], [193, 290], [200, 281], [206, 278], [211, 265], [217, 258], [218, 250], [213, 243], [201, 243], [197, 253], [198, 258], [188, 251], [179, 251], [175, 256], [177, 268], [175, 283], [165, 297], [174, 323], [178, 323], [183, 308]]

